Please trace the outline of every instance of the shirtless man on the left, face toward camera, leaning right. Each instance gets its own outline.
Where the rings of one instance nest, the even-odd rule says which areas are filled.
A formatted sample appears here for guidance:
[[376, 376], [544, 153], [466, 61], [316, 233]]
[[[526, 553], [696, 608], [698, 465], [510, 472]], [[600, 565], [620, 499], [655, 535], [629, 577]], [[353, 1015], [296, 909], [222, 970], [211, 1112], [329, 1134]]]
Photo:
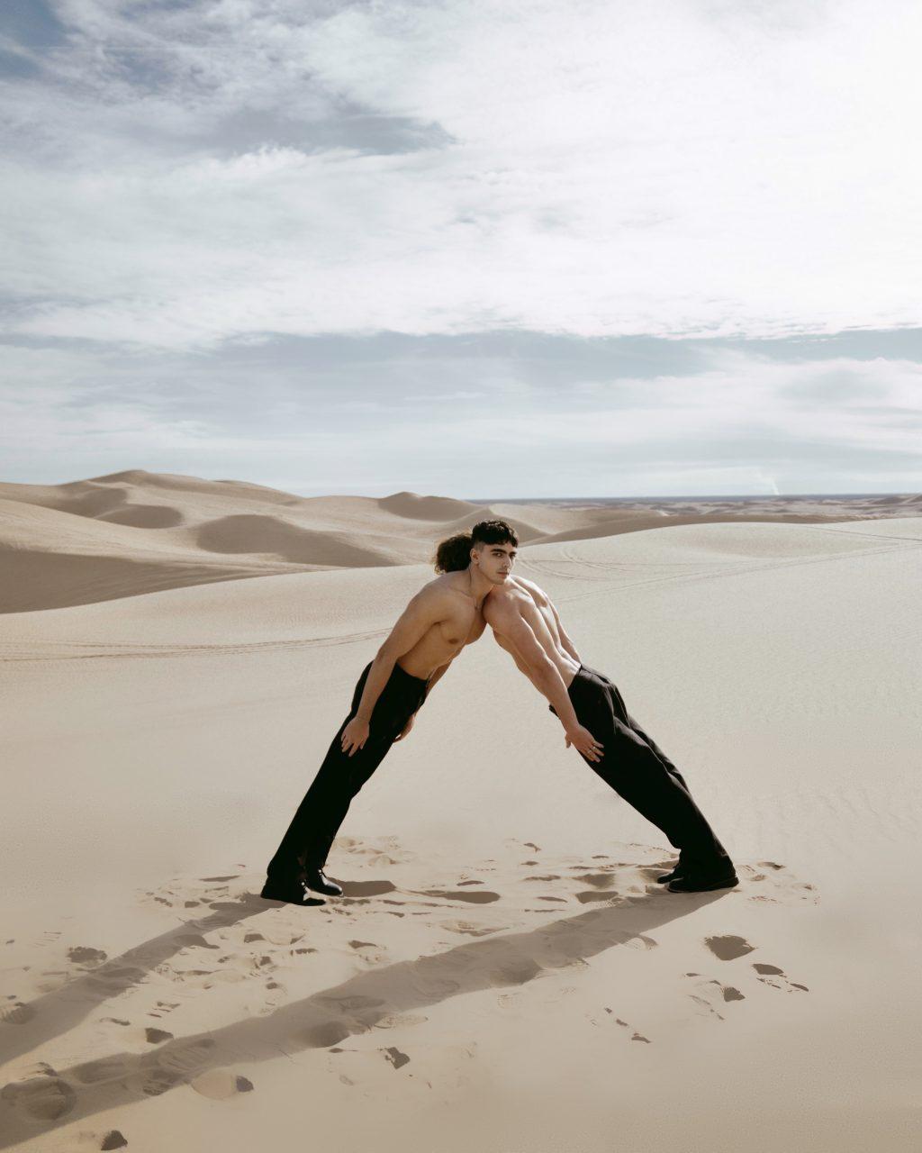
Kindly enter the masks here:
[[391, 635], [365, 665], [317, 776], [269, 864], [260, 896], [303, 902], [305, 890], [339, 896], [323, 869], [349, 804], [384, 760], [448, 665], [485, 628], [484, 597], [506, 579], [509, 560], [496, 542], [514, 542], [505, 521], [481, 521], [443, 541], [436, 572], [413, 597]]

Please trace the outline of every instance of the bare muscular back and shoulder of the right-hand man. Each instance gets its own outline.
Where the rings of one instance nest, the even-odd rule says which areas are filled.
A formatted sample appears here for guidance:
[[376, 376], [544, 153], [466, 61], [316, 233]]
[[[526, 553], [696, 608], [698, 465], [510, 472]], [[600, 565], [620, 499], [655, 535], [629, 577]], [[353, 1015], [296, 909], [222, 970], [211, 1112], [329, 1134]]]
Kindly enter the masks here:
[[564, 684], [569, 685], [580, 661], [551, 598], [534, 581], [509, 576], [501, 588], [493, 589], [488, 596], [484, 616], [493, 630], [496, 642], [512, 655], [536, 687], [532, 673], [541, 651], [557, 666]]

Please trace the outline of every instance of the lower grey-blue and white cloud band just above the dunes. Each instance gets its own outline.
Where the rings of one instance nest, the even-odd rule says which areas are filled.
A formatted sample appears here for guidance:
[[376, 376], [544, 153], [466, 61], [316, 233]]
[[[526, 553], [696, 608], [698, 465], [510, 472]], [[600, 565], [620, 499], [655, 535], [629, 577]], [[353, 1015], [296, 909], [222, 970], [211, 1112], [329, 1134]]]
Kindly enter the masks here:
[[[5, 352], [6, 478], [126, 468], [304, 495], [912, 491], [917, 360], [738, 341], [348, 338], [209, 355]], [[316, 351], [315, 351], [316, 347]], [[657, 348], [663, 360], [657, 367]], [[685, 364], [682, 364], [685, 359]], [[554, 366], [549, 378], [549, 364]], [[829, 382], [847, 379], [830, 400]]]

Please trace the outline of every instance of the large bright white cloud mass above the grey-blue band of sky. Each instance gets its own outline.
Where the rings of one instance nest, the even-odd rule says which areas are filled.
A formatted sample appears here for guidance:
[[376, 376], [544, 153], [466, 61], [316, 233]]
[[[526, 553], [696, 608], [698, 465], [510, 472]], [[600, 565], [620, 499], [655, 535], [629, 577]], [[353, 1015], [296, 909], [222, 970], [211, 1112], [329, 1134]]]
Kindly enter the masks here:
[[922, 319], [908, 0], [12, 10], [9, 332], [181, 351]]

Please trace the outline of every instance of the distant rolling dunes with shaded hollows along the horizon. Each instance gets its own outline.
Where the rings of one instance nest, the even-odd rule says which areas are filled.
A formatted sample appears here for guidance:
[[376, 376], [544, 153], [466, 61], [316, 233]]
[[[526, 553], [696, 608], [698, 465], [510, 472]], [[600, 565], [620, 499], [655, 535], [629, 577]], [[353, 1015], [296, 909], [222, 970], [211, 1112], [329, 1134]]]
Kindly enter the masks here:
[[0, 612], [109, 601], [189, 585], [318, 568], [428, 564], [438, 541], [501, 519], [520, 543], [566, 542], [719, 521], [907, 517], [919, 495], [499, 502], [401, 491], [298, 497], [248, 481], [127, 469], [66, 484], [0, 483]]

